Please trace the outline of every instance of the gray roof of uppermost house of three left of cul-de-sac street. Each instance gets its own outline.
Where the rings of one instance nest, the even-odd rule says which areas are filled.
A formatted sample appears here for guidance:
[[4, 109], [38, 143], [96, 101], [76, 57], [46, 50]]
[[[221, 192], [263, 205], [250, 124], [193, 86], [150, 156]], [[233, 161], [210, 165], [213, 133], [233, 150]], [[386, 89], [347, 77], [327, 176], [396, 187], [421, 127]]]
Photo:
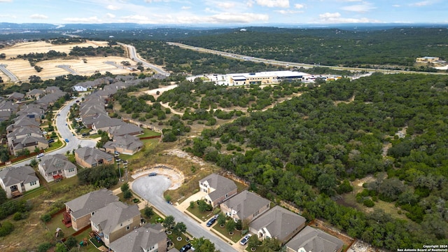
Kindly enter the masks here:
[[118, 197], [113, 195], [111, 190], [103, 188], [77, 197], [65, 204], [71, 209], [71, 215], [74, 218], [80, 218], [117, 201]]

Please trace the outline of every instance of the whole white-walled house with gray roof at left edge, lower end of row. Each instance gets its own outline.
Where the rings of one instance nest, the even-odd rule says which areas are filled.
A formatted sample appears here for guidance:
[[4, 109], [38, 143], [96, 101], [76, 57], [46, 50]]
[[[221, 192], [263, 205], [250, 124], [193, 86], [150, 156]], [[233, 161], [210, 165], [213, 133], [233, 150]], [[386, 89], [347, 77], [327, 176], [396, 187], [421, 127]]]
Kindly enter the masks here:
[[6, 167], [0, 170], [0, 186], [6, 197], [17, 197], [41, 186], [34, 169], [29, 166]]

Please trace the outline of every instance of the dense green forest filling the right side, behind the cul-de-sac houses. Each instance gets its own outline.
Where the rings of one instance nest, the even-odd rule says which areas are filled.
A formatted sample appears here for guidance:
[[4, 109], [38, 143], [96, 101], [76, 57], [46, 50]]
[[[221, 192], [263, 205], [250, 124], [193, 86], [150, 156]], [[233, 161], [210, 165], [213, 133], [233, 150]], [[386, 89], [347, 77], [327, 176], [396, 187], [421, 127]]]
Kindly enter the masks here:
[[[304, 89], [274, 109], [204, 130], [187, 150], [374, 246], [446, 244], [448, 78], [374, 74]], [[229, 144], [244, 151], [225, 151]], [[392, 202], [407, 218], [335, 203], [351, 191], [349, 180], [368, 174], [375, 179], [358, 202]]]

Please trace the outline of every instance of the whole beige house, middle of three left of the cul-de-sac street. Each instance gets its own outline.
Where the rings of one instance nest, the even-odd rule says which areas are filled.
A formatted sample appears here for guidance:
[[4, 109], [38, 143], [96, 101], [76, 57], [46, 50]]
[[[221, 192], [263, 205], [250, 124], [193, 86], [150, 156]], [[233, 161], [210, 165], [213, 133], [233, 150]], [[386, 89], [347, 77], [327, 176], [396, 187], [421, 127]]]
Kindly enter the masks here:
[[92, 215], [90, 225], [92, 231], [97, 232], [104, 244], [109, 246], [112, 241], [137, 230], [140, 227], [140, 218], [137, 204], [112, 202]]

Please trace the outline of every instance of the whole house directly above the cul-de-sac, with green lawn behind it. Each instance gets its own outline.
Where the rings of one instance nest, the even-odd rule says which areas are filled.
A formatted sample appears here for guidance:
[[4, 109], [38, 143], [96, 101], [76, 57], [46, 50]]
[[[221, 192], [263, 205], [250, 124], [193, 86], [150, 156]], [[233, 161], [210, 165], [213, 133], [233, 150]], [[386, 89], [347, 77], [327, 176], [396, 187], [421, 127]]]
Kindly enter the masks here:
[[138, 137], [132, 135], [124, 135], [123, 137], [113, 137], [113, 141], [104, 144], [107, 153], [122, 153], [126, 155], [134, 155], [143, 148], [143, 143]]

